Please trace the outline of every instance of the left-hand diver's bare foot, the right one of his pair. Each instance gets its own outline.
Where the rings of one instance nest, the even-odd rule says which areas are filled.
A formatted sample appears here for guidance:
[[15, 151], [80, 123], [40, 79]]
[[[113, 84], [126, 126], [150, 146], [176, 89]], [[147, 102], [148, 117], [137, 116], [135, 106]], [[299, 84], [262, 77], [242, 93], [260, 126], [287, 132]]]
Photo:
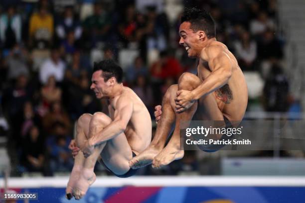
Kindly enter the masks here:
[[73, 188], [73, 196], [76, 200], [83, 198], [89, 186], [91, 186], [96, 180], [95, 173], [93, 169], [83, 169], [79, 176], [79, 180], [77, 181], [75, 187]]

